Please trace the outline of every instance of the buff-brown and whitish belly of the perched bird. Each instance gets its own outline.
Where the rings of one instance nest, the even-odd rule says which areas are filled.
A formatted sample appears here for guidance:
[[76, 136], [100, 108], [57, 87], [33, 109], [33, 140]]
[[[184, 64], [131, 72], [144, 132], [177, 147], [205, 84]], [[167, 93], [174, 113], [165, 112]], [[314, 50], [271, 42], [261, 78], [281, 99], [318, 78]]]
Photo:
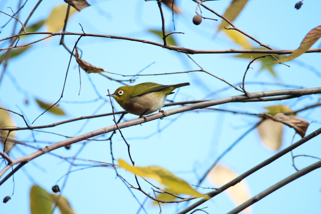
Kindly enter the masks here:
[[165, 95], [156, 92], [144, 94], [130, 99], [126, 104], [126, 111], [135, 115], [151, 114], [163, 107], [165, 99]]

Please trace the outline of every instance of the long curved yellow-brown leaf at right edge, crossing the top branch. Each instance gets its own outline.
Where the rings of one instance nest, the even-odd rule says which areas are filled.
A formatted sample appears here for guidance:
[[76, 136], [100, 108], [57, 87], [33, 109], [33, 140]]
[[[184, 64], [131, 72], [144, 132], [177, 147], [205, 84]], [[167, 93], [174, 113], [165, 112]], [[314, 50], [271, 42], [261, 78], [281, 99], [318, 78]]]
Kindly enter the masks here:
[[289, 56], [286, 58], [283, 58], [281, 60], [275, 61], [272, 64], [279, 63], [279, 62], [287, 62], [294, 58], [299, 57], [300, 55], [307, 52], [311, 46], [316, 43], [318, 39], [321, 37], [321, 25], [317, 26], [316, 28], [313, 28], [308, 34], [304, 37], [302, 40], [300, 47], [298, 49], [295, 49]]

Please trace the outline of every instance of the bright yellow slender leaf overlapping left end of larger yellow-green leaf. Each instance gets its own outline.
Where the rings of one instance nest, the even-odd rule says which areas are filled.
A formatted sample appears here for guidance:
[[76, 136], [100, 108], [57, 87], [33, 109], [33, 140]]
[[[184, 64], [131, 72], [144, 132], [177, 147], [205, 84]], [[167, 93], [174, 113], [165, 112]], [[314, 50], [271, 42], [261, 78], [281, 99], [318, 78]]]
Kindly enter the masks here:
[[158, 174], [154, 173], [152, 170], [147, 169], [146, 167], [137, 167], [137, 166], [134, 167], [134, 166], [127, 164], [122, 159], [118, 159], [118, 165], [119, 165], [119, 167], [126, 169], [129, 172], [139, 175], [141, 177], [152, 178], [159, 183], [160, 187], [162, 186], [160, 176]]

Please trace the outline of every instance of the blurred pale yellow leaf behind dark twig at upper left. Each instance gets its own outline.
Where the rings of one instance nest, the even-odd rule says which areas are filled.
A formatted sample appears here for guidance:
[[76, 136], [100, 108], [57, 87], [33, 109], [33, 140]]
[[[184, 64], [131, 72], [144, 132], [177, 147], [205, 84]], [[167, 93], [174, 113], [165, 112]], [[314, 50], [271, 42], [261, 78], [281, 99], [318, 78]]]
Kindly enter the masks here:
[[[52, 9], [46, 20], [48, 32], [58, 32], [64, 27], [67, 7], [68, 4], [58, 4]], [[76, 11], [74, 7], [70, 7], [68, 20]]]

